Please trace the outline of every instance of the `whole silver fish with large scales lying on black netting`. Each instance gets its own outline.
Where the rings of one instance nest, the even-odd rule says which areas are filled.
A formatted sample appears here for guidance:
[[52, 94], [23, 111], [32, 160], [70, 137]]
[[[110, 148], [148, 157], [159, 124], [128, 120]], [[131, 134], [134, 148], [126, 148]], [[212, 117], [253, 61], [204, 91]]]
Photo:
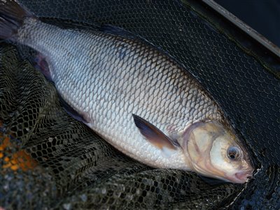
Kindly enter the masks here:
[[0, 38], [36, 50], [66, 111], [113, 147], [155, 168], [231, 183], [253, 176], [221, 106], [167, 52], [119, 27], [52, 25], [0, 2]]

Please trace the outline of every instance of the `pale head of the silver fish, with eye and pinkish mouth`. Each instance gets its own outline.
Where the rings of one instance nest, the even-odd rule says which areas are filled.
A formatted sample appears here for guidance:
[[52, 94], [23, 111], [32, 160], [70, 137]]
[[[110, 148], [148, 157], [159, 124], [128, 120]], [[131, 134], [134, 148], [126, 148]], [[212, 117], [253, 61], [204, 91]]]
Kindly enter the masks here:
[[248, 152], [237, 135], [218, 121], [191, 125], [181, 146], [198, 174], [232, 183], [245, 183], [253, 176]]

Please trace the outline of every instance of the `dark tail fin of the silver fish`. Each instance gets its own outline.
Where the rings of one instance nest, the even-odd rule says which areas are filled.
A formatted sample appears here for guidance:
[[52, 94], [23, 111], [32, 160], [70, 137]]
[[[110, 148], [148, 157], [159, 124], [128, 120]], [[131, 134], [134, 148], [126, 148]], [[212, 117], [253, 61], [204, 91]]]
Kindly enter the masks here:
[[11, 39], [22, 27], [25, 18], [32, 18], [27, 9], [15, 0], [0, 0], [0, 38]]

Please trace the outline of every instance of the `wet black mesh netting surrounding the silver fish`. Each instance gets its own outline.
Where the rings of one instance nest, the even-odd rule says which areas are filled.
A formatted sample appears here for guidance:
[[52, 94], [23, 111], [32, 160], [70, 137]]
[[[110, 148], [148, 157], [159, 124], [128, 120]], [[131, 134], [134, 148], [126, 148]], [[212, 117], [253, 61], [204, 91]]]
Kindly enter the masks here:
[[256, 174], [244, 185], [211, 185], [127, 158], [68, 116], [55, 87], [1, 42], [0, 209], [280, 208], [279, 57], [199, 1], [20, 2], [48, 22], [123, 27], [175, 57], [244, 137]]

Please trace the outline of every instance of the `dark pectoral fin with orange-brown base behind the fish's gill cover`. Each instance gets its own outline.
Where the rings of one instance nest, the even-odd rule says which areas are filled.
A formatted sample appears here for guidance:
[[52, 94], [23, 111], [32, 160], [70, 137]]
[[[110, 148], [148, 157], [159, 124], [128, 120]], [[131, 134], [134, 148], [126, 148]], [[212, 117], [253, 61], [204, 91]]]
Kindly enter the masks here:
[[155, 127], [155, 125], [149, 123], [147, 120], [144, 120], [143, 118], [132, 114], [134, 118], [134, 123], [138, 127], [141, 134], [146, 137], [148, 141], [151, 142], [154, 146], [157, 146], [162, 151], [165, 150], [165, 148], [176, 150], [178, 148], [176, 142], [167, 135], [165, 135], [162, 131], [158, 129], [158, 127]]

